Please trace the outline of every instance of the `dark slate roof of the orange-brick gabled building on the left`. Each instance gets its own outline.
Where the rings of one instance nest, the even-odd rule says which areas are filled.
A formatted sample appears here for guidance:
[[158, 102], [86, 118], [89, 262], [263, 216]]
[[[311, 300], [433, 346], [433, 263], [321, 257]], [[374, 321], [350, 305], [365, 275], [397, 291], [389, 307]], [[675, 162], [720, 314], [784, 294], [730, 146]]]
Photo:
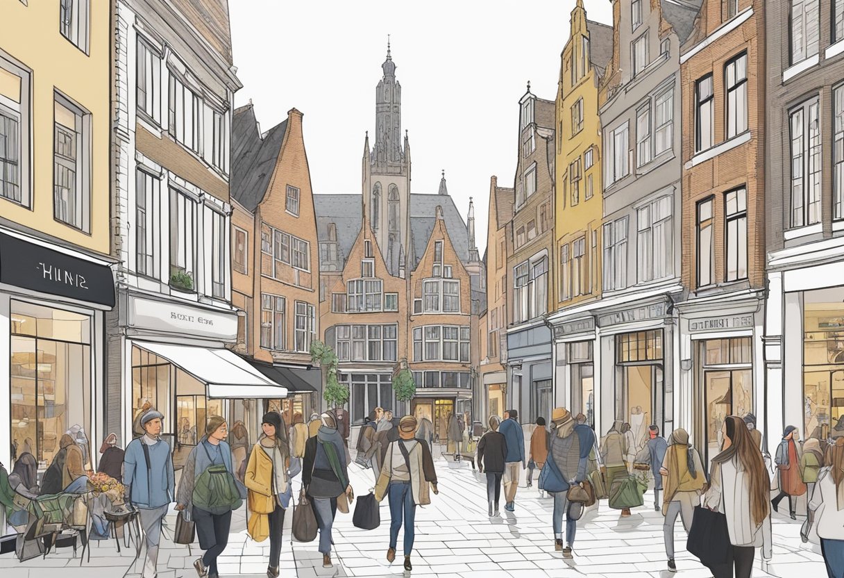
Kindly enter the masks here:
[[235, 110], [231, 123], [231, 195], [246, 210], [254, 211], [267, 194], [279, 159], [287, 120], [258, 133], [252, 105]]

